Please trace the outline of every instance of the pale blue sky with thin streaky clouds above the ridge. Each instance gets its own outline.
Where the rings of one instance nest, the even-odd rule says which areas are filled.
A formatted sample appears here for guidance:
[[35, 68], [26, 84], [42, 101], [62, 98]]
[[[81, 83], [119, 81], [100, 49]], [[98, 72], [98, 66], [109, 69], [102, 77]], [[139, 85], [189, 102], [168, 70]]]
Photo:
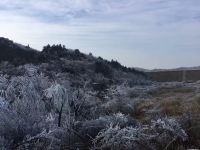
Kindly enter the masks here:
[[129, 67], [200, 66], [200, 0], [1, 0], [0, 36]]

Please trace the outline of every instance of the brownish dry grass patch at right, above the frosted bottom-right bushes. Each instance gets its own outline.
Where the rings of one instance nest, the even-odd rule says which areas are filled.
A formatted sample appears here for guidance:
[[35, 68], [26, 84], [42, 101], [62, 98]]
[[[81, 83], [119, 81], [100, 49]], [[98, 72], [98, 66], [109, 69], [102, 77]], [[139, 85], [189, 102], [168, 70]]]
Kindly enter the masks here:
[[193, 87], [161, 87], [138, 101], [130, 115], [140, 122], [146, 122], [159, 115], [181, 117], [190, 112], [200, 113], [200, 94]]

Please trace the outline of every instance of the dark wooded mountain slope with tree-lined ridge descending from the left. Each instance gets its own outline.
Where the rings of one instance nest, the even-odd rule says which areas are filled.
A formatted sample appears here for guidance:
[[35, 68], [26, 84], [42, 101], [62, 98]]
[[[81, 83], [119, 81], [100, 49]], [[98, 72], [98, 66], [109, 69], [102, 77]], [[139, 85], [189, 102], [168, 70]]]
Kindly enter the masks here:
[[130, 84], [136, 84], [146, 80], [146, 75], [142, 71], [127, 68], [114, 60], [107, 61], [101, 57], [83, 54], [78, 49], [67, 49], [60, 44], [47, 45], [40, 52], [0, 38], [0, 62], [3, 61], [14, 66], [34, 64], [38, 65], [40, 71], [47, 75], [55, 76], [60, 73], [68, 77], [79, 78], [79, 80], [82, 80], [83, 74], [89, 79], [100, 74], [104, 79], [110, 80], [110, 83], [127, 80]]

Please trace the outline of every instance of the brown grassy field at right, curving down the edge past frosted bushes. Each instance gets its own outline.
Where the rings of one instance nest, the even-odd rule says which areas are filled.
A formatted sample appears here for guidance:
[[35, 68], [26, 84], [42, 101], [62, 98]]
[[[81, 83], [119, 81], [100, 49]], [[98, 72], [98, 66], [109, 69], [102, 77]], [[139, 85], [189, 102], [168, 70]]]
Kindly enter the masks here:
[[[137, 110], [132, 114], [140, 122], [148, 123], [152, 119], [163, 117], [176, 118], [186, 131], [189, 142], [187, 148], [200, 146], [200, 82], [160, 83], [150, 87], [137, 103]], [[184, 144], [181, 144], [184, 145]], [[171, 149], [185, 149], [173, 147]]]

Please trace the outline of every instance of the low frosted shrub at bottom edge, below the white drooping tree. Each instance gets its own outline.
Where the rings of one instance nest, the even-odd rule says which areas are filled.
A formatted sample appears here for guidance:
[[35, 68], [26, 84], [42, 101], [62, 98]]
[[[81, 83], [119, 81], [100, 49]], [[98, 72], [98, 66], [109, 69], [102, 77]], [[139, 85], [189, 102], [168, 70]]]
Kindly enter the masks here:
[[43, 130], [41, 133], [27, 137], [17, 148], [21, 149], [85, 149], [85, 139], [75, 130], [67, 128], [54, 128]]

